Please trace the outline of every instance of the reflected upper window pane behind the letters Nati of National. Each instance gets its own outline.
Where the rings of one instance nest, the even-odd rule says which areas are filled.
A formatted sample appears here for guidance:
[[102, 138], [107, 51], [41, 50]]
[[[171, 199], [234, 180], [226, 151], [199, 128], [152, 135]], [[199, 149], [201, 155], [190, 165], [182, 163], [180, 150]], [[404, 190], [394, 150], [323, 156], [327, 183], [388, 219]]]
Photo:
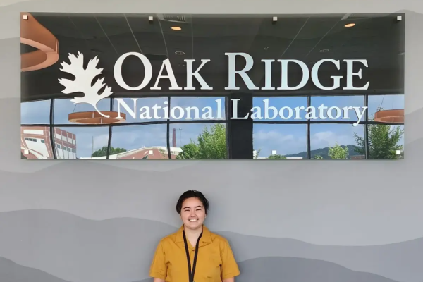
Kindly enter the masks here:
[[116, 98], [113, 101], [113, 110], [125, 114], [126, 123], [166, 122], [167, 102], [167, 97]]

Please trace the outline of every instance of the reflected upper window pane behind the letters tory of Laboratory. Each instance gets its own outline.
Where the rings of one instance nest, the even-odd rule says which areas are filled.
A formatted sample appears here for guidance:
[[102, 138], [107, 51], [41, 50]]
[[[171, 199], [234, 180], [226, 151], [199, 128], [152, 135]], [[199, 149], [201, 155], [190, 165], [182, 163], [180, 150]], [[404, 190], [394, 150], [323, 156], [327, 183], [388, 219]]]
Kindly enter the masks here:
[[316, 111], [314, 121], [364, 121], [367, 114], [364, 96], [317, 96], [310, 104]]

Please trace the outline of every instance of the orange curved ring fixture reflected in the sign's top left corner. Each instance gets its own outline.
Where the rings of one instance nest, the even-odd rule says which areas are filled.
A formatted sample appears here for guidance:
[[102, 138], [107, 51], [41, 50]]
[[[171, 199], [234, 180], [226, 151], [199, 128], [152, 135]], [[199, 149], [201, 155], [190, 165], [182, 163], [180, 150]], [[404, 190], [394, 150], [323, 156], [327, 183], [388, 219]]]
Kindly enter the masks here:
[[20, 13], [20, 43], [37, 48], [37, 51], [20, 55], [21, 71], [37, 71], [59, 60], [59, 42], [30, 13]]

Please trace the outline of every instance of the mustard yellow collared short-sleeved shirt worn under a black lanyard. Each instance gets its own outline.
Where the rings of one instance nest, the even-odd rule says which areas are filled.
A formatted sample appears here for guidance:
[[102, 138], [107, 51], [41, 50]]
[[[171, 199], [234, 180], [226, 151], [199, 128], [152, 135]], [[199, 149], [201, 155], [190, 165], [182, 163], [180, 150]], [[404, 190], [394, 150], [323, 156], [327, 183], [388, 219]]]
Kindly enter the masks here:
[[[191, 269], [194, 263], [195, 246], [189, 240]], [[238, 276], [240, 271], [235, 262], [231, 246], [226, 238], [210, 232], [203, 226], [195, 266], [195, 282], [221, 282]], [[189, 282], [188, 260], [183, 241], [183, 226], [176, 233], [160, 240], [157, 246], [149, 276], [166, 282]]]

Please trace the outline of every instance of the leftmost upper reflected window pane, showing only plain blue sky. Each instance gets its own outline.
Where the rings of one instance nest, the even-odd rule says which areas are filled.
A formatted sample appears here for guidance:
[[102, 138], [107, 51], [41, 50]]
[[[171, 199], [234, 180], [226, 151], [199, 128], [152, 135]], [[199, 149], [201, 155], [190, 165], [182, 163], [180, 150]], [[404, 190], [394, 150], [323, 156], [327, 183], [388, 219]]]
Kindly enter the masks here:
[[20, 103], [20, 123], [49, 124], [50, 100]]

